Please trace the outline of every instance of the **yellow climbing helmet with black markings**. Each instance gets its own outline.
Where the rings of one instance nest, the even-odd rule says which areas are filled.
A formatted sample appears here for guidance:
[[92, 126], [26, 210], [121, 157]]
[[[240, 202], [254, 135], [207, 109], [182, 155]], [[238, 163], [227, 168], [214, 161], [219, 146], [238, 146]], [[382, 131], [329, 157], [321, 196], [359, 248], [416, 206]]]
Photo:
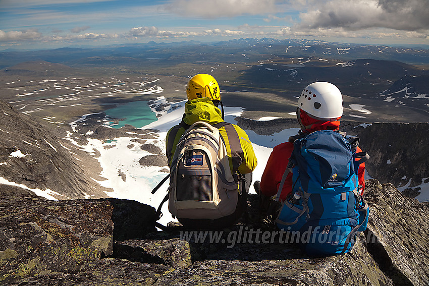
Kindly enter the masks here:
[[191, 78], [186, 85], [188, 99], [210, 97], [211, 100], [221, 100], [219, 84], [215, 78], [207, 74], [198, 74]]

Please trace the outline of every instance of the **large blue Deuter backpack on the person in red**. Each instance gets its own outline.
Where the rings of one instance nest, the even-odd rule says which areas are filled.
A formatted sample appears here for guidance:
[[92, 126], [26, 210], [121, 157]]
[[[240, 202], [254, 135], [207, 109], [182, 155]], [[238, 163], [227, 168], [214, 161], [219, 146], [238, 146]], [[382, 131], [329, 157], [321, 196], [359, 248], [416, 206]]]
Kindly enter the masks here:
[[289, 171], [292, 194], [276, 223], [308, 255], [347, 253], [357, 232], [366, 229], [369, 209], [360, 195], [357, 170], [369, 156], [356, 154], [358, 143], [359, 138], [332, 130], [315, 131], [294, 142], [276, 201]]

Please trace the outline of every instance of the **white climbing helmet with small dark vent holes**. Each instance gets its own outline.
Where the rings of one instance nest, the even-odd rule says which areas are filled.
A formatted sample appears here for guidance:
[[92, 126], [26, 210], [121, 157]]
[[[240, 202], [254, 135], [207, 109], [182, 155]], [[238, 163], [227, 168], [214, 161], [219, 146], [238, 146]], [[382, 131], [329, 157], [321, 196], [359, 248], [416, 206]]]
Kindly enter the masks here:
[[316, 118], [339, 118], [343, 115], [343, 97], [332, 83], [314, 82], [302, 91], [298, 107]]

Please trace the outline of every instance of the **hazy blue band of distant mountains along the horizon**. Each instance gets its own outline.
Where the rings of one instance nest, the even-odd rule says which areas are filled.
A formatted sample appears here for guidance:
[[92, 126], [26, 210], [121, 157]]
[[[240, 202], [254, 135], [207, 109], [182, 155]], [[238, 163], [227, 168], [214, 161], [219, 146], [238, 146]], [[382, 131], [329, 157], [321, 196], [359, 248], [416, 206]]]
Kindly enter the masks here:
[[[323, 59], [374, 59], [394, 60], [408, 64], [429, 64], [429, 50], [423, 48], [399, 48], [384, 45], [363, 45], [331, 43], [317, 40], [276, 40], [237, 39], [217, 43], [201, 43], [182, 41], [174, 43], [148, 42], [142, 44], [122, 44], [93, 48], [59, 48], [49, 50], [18, 51], [5, 50], [0, 52], [0, 68], [6, 68], [21, 62], [42, 60], [51, 63], [79, 63], [80, 59], [93, 56], [176, 60], [210, 61], [216, 53], [229, 55], [224, 61], [243, 61], [241, 51], [247, 53], [248, 59], [262, 59], [261, 55], [293, 58], [296, 56], [317, 56]], [[239, 55], [231, 56], [233, 54]], [[204, 55], [201, 57], [200, 55]], [[250, 56], [250, 58], [249, 58]]]

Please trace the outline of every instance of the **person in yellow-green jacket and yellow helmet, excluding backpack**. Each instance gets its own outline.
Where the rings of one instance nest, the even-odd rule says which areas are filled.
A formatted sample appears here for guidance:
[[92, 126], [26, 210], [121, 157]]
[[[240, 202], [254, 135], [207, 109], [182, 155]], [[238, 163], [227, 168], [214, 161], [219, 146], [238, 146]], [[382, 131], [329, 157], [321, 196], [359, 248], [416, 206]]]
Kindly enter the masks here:
[[[221, 101], [219, 84], [215, 78], [208, 74], [197, 74], [192, 77], [186, 86], [188, 101], [185, 104], [185, 113], [182, 122], [172, 127], [166, 138], [166, 153], [168, 164], [172, 167], [172, 160], [177, 144], [182, 135], [196, 122], [208, 123], [219, 129], [222, 141], [225, 143], [229, 167], [235, 183], [239, 184], [241, 174], [245, 182], [244, 191], [239, 185], [240, 193], [248, 193], [252, 181], [252, 171], [257, 165], [249, 137], [243, 129], [224, 121], [224, 108]], [[218, 108], [219, 104], [222, 110]], [[226, 190], [223, 190], [225, 193]], [[240, 208], [237, 208], [240, 209]], [[179, 222], [193, 227], [223, 226], [235, 222], [237, 214], [233, 213], [218, 219], [179, 219]]]

